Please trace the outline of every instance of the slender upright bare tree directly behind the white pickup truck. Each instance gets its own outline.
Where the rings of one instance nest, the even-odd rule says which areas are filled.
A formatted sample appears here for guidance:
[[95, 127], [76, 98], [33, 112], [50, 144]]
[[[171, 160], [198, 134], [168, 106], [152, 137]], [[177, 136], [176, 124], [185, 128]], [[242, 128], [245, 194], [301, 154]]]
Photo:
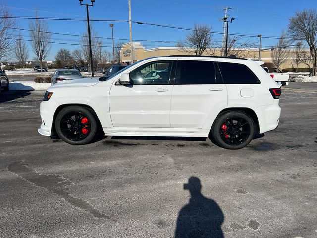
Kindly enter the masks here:
[[272, 63], [275, 64], [277, 72], [279, 71], [279, 67], [286, 62], [289, 53], [286, 48], [288, 40], [286, 40], [285, 38], [286, 32], [283, 30], [281, 37], [279, 38], [277, 44], [274, 46], [274, 49], [271, 52]]

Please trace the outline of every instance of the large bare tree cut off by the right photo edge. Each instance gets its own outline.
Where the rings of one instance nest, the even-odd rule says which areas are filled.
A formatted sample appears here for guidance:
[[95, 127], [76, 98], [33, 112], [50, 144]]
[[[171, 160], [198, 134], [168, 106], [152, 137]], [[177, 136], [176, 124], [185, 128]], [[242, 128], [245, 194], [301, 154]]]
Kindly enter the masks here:
[[313, 76], [317, 70], [317, 10], [303, 10], [296, 12], [290, 18], [288, 31], [293, 39], [304, 39], [310, 49], [313, 59]]

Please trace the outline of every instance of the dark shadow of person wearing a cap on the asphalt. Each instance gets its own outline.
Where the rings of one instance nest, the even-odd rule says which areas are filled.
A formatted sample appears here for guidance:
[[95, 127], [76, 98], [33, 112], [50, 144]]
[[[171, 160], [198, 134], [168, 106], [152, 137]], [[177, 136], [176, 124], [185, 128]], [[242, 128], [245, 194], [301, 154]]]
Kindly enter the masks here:
[[197, 177], [190, 177], [184, 184], [191, 198], [178, 214], [175, 238], [224, 238], [221, 229], [224, 215], [214, 200], [204, 197], [201, 189]]

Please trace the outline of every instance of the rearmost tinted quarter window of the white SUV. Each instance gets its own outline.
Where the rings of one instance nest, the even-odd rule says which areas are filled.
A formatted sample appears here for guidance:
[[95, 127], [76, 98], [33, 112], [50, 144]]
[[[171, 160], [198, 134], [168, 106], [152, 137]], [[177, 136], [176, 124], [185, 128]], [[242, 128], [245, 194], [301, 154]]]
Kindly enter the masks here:
[[244, 64], [218, 62], [225, 84], [260, 83], [257, 76]]

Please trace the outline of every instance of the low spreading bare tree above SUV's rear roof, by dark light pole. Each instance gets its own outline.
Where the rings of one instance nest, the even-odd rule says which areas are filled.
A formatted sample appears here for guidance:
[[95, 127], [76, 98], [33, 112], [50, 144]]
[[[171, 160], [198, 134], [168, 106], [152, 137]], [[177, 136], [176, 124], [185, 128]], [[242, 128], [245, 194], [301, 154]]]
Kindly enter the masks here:
[[[227, 55], [234, 55], [236, 57], [241, 58], [250, 58], [250, 52], [247, 50], [248, 48], [251, 48], [253, 46], [253, 43], [250, 43], [249, 41], [239, 42], [242, 40], [241, 36], [234, 36], [229, 37], [228, 39], [228, 47], [227, 47]], [[225, 49], [222, 48], [222, 52], [224, 52]], [[255, 58], [255, 53], [253, 58]]]

